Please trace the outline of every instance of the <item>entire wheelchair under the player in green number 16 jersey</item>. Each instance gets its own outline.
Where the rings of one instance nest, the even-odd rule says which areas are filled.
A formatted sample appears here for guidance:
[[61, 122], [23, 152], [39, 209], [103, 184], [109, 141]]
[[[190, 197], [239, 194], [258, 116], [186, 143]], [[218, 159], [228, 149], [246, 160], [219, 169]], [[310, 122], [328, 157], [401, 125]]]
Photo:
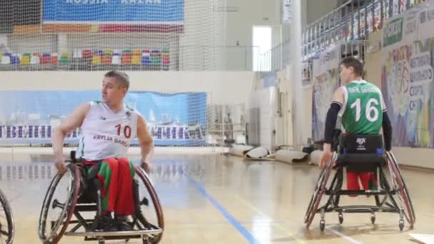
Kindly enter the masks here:
[[[309, 228], [313, 218], [320, 213], [320, 229], [325, 228], [325, 213], [338, 213], [343, 223], [343, 213], [370, 213], [375, 223], [375, 213], [398, 213], [400, 231], [404, 218], [410, 228], [415, 223], [415, 212], [410, 193], [400, 173], [398, 162], [392, 152], [383, 150], [382, 135], [343, 135], [335, 130], [332, 143], [332, 158], [322, 169], [311, 201], [306, 210], [304, 222]], [[332, 171], [335, 174], [329, 182]], [[377, 180], [376, 189], [343, 190], [344, 170], [371, 172]], [[341, 195], [373, 195], [375, 205], [339, 205]], [[324, 199], [322, 199], [324, 198]], [[323, 201], [321, 201], [323, 200]], [[322, 203], [320, 205], [320, 203]]]

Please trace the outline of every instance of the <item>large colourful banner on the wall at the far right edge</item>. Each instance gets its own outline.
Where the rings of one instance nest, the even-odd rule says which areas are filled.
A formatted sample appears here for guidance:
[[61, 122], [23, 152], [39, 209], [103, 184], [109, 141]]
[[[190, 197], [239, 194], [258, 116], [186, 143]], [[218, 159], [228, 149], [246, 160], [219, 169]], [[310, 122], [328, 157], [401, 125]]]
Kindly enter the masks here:
[[434, 8], [422, 9], [391, 19], [383, 29], [382, 87], [393, 146], [434, 148], [434, 31], [428, 28]]

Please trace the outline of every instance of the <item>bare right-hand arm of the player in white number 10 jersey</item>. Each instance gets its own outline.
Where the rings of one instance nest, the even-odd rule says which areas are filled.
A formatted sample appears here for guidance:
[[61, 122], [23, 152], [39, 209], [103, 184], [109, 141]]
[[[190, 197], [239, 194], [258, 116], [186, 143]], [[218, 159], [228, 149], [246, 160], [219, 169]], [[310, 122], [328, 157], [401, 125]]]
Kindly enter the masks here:
[[153, 149], [153, 138], [148, 130], [148, 124], [143, 116], [137, 118], [137, 137], [141, 149], [141, 166], [145, 171], [149, 171], [149, 161]]

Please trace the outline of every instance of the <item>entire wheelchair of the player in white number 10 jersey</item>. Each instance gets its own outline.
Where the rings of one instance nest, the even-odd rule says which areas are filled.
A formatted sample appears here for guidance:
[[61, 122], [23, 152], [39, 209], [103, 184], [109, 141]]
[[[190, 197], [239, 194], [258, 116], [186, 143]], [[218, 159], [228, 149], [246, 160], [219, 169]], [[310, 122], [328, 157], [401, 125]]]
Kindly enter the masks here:
[[[71, 151], [71, 161], [67, 162], [68, 171], [54, 176], [42, 204], [38, 227], [42, 243], [58, 243], [64, 235], [84, 237], [85, 241], [98, 240], [99, 244], [105, 243], [105, 240], [141, 239], [143, 243], [158, 243], [161, 240], [164, 230], [163, 210], [156, 191], [142, 168], [134, 166], [136, 211], [127, 218], [127, 223], [133, 230], [104, 232], [96, 229], [102, 214], [101, 188], [89, 190], [89, 179], [84, 177], [84, 167], [77, 163], [75, 151]], [[96, 179], [94, 182], [99, 183]], [[62, 186], [66, 189], [56, 191]]]

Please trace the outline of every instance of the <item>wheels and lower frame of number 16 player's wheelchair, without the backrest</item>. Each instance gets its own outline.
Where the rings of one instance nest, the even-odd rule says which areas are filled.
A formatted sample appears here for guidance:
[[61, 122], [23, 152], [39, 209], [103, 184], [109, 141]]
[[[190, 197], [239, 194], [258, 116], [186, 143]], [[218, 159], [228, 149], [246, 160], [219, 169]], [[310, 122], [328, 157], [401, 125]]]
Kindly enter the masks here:
[[[391, 152], [386, 152], [383, 155], [384, 162], [376, 166], [375, 176], [378, 179], [377, 190], [342, 190], [343, 186], [343, 169], [345, 166], [337, 165], [338, 153], [333, 152], [333, 156], [326, 166], [322, 169], [316, 188], [311, 197], [311, 201], [306, 210], [305, 220], [306, 227], [309, 228], [316, 213], [321, 214], [320, 229], [325, 228], [325, 213], [338, 212], [339, 223], [343, 223], [343, 213], [371, 213], [371, 223], [375, 223], [375, 212], [398, 213], [400, 215], [399, 228], [402, 231], [404, 228], [405, 216], [410, 228], [413, 228], [415, 223], [415, 213], [413, 204], [410, 200], [408, 188], [405, 185], [403, 177], [398, 168], [398, 163], [395, 156]], [[390, 178], [392, 179], [392, 187], [388, 183], [383, 167], [387, 164]], [[328, 178], [330, 178], [331, 171], [336, 168], [337, 171], [330, 186], [327, 188]], [[328, 196], [325, 205], [319, 206], [323, 195]], [[340, 206], [340, 195], [373, 195], [375, 198], [375, 205], [347, 205]], [[380, 196], [383, 199], [380, 200]], [[398, 200], [395, 199], [397, 196]], [[388, 199], [390, 202], [388, 202]]]

